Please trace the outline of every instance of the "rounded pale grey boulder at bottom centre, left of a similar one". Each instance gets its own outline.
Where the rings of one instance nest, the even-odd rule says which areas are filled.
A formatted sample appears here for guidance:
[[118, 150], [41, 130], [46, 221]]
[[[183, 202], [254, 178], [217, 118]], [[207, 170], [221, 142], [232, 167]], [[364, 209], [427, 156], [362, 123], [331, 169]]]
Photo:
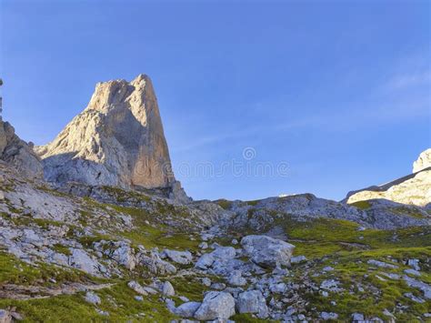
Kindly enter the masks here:
[[195, 318], [199, 320], [227, 319], [235, 315], [235, 299], [226, 292], [210, 291], [202, 305], [197, 308]]

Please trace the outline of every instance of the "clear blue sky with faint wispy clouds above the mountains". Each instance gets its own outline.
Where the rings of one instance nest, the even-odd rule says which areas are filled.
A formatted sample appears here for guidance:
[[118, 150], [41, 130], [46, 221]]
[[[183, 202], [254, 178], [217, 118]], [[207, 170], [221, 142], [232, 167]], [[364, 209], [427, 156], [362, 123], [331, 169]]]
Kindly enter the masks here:
[[[4, 117], [17, 133], [45, 144], [95, 83], [145, 73], [195, 198], [341, 199], [406, 175], [431, 146], [428, 1], [0, 3]], [[288, 171], [237, 176], [223, 166], [234, 161]]]

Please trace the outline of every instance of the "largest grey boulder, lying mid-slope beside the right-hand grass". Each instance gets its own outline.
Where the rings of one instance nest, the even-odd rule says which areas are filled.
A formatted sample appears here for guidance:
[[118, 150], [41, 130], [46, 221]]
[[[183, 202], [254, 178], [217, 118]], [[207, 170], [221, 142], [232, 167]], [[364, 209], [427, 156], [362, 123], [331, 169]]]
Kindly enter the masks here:
[[283, 240], [266, 236], [246, 236], [241, 240], [246, 254], [261, 267], [290, 265], [294, 245]]

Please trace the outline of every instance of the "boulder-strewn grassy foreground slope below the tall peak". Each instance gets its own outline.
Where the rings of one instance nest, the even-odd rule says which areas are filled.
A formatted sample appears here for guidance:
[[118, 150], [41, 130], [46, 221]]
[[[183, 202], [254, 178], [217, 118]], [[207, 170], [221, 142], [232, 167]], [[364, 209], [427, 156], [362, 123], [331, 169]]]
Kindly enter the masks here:
[[118, 187], [60, 192], [3, 162], [0, 178], [5, 321], [430, 315], [429, 226], [376, 229], [360, 207], [311, 195], [178, 205]]

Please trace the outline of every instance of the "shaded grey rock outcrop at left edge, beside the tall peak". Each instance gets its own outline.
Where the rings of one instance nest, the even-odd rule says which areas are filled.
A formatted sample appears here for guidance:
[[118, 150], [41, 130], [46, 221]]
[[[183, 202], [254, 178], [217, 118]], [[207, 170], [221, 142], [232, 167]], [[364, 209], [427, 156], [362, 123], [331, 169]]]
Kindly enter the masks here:
[[3, 121], [0, 121], [0, 159], [15, 167], [25, 177], [43, 177], [42, 163], [32, 145], [16, 136], [14, 127]]

